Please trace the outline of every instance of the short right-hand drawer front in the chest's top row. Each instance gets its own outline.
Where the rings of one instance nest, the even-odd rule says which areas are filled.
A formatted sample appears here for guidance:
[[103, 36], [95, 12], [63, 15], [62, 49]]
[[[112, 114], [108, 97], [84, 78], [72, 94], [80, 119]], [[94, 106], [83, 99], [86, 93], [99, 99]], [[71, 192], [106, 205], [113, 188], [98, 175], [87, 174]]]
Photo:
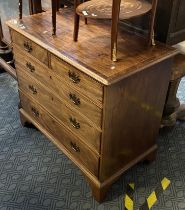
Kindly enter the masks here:
[[103, 86], [100, 83], [54, 55], [51, 55], [51, 68], [61, 79], [81, 91], [84, 95], [88, 94], [88, 97], [92, 100], [102, 103]]

